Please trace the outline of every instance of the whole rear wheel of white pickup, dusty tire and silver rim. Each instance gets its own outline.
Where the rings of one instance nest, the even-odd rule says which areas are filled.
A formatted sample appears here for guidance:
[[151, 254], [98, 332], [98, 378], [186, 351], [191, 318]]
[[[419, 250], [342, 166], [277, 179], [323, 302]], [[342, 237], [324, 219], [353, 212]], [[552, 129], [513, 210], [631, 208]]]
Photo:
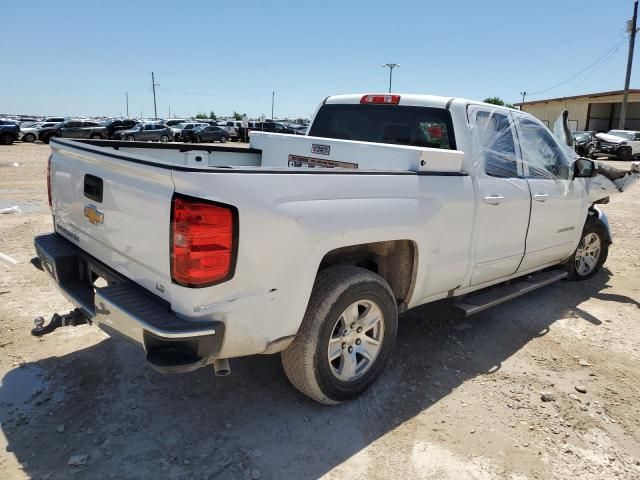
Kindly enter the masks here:
[[326, 405], [367, 390], [396, 339], [398, 309], [387, 282], [353, 266], [318, 273], [302, 325], [282, 352], [289, 381]]

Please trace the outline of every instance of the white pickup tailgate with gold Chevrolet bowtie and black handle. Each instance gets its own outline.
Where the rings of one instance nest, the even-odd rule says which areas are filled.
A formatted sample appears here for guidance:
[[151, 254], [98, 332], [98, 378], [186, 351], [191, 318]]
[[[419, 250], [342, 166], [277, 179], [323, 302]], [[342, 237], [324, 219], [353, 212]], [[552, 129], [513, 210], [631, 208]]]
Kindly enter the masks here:
[[170, 301], [171, 169], [101, 155], [88, 145], [74, 148], [73, 142], [51, 147], [56, 232]]

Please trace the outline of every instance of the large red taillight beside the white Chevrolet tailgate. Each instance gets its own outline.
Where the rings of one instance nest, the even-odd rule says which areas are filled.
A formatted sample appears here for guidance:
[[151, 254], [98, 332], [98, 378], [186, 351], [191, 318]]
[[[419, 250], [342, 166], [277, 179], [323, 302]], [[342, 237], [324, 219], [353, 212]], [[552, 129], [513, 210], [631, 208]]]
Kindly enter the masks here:
[[175, 195], [171, 206], [171, 278], [207, 287], [234, 273], [238, 213], [230, 205]]

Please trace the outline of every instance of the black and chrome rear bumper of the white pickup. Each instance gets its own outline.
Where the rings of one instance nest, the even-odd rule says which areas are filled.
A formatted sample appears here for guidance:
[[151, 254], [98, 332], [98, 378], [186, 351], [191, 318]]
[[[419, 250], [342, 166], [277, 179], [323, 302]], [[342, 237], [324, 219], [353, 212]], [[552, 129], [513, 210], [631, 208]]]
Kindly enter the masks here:
[[[164, 300], [88, 255], [55, 233], [34, 246], [63, 295], [100, 328], [144, 348], [147, 361], [164, 373], [186, 372], [212, 363], [224, 338], [224, 323], [178, 317]], [[97, 278], [107, 282], [95, 287]]]

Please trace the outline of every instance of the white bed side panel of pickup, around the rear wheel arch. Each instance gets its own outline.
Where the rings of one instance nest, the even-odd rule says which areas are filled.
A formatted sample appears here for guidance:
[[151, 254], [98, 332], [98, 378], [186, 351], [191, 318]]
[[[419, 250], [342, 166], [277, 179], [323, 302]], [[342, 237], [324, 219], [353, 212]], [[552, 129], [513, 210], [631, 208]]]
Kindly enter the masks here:
[[204, 289], [172, 285], [178, 313], [225, 321], [223, 356], [259, 353], [294, 335], [320, 262], [336, 248], [414, 242], [410, 306], [455, 288], [467, 268], [469, 177], [174, 171], [173, 180], [178, 193], [239, 210], [234, 277]]

